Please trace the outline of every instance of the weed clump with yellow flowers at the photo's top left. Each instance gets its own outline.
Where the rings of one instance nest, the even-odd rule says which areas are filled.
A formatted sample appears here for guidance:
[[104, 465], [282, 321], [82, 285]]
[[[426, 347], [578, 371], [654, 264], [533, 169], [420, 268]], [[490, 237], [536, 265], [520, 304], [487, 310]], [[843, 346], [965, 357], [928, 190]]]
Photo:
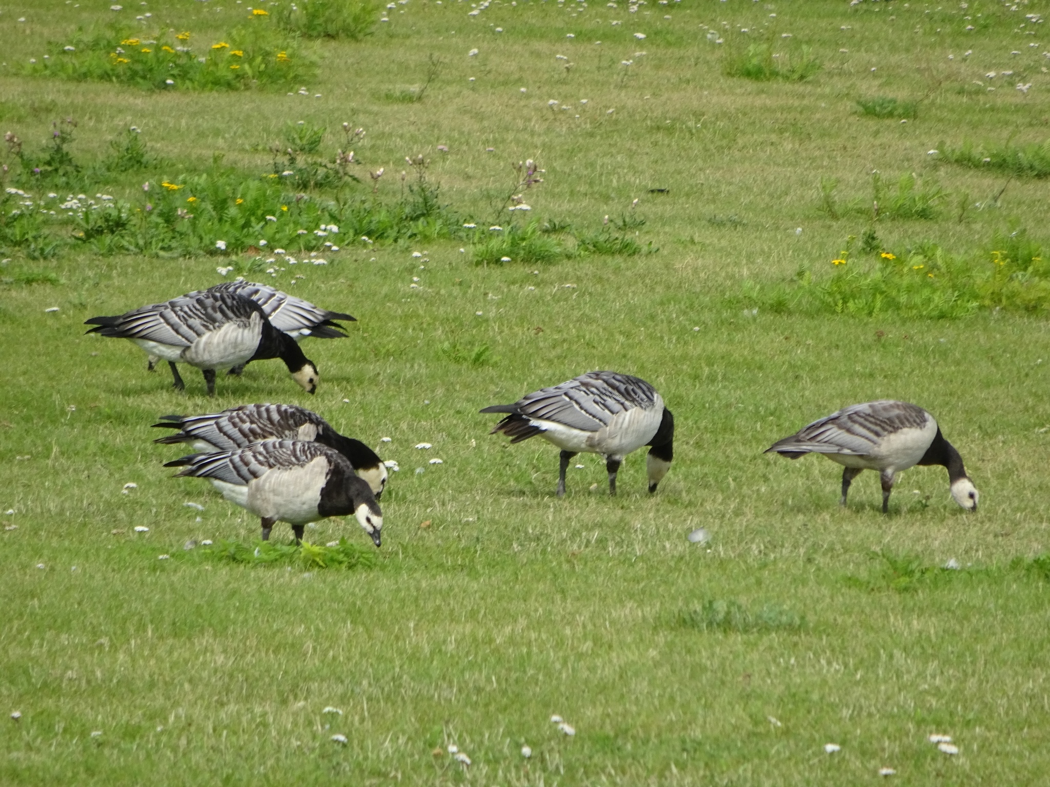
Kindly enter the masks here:
[[244, 90], [287, 87], [311, 79], [316, 65], [296, 50], [294, 39], [255, 17], [210, 42], [189, 33], [144, 36], [127, 28], [78, 29], [67, 42], [52, 42], [48, 57], [26, 72], [78, 81], [133, 85], [145, 90]]

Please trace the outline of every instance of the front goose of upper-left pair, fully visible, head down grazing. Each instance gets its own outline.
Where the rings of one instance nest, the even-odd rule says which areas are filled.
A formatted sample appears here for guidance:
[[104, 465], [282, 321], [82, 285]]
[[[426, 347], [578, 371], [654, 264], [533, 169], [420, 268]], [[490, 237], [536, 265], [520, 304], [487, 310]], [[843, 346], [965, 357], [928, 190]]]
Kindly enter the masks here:
[[117, 317], [92, 317], [87, 333], [130, 339], [147, 355], [165, 359], [171, 367], [176, 390], [186, 386], [176, 361], [204, 373], [208, 396], [215, 396], [215, 370], [280, 358], [292, 378], [309, 393], [317, 390], [320, 376], [299, 345], [277, 331], [261, 306], [234, 293], [198, 293], [142, 306]]

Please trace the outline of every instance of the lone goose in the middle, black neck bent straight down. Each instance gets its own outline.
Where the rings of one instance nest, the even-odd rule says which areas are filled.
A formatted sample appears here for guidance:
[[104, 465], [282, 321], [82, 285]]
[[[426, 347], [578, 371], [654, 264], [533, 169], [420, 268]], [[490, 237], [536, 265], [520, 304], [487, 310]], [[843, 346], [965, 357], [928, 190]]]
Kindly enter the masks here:
[[659, 393], [630, 375], [588, 371], [561, 385], [528, 393], [513, 404], [482, 412], [509, 413], [490, 433], [503, 432], [521, 443], [539, 434], [562, 449], [558, 495], [565, 494], [565, 470], [578, 453], [605, 456], [609, 494], [616, 493], [616, 472], [631, 451], [652, 446], [646, 458], [649, 491], [667, 474], [674, 458], [674, 417]]

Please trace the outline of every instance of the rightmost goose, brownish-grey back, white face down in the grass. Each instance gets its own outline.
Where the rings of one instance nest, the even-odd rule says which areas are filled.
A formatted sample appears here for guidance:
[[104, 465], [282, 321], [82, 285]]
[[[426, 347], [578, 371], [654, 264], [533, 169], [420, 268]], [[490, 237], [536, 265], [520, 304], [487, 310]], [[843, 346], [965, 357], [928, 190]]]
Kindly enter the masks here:
[[937, 421], [922, 407], [884, 399], [843, 407], [814, 421], [797, 434], [778, 440], [766, 453], [788, 459], [823, 453], [843, 465], [841, 505], [849, 484], [861, 470], [878, 470], [882, 478], [882, 512], [889, 510], [889, 493], [901, 470], [914, 465], [948, 468], [951, 496], [968, 511], [978, 510], [978, 490], [966, 474], [963, 458], [941, 434]]

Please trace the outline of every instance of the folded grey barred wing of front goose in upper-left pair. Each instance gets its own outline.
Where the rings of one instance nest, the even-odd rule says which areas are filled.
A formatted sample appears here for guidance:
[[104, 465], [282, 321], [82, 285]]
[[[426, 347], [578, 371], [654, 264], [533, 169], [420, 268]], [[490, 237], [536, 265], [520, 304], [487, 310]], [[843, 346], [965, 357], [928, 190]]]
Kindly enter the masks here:
[[151, 303], [120, 317], [92, 317], [85, 324], [99, 324], [89, 334], [188, 347], [205, 334], [229, 322], [248, 320], [257, 311], [259, 306], [250, 298], [229, 293], [198, 293]]

